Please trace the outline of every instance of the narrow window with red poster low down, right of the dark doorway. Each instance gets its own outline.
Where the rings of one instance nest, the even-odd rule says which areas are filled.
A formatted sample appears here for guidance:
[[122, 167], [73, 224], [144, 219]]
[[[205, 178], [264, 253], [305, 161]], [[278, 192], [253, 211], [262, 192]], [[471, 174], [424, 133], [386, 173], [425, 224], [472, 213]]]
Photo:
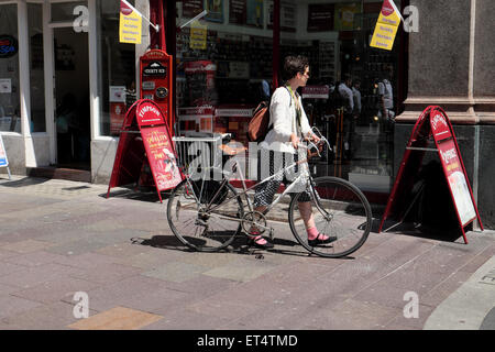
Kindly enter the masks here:
[[[100, 134], [119, 136], [127, 109], [136, 99], [135, 45], [119, 42], [119, 1], [98, 3]], [[134, 1], [130, 1], [134, 6]]]

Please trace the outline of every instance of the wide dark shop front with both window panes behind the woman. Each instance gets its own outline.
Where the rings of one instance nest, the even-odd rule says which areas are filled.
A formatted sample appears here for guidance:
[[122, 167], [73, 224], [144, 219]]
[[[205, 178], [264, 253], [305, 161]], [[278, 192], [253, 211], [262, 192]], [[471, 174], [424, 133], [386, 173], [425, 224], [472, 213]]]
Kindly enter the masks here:
[[[407, 4], [395, 2], [399, 9]], [[311, 72], [308, 87], [300, 91], [305, 111], [333, 144], [333, 152], [315, 162], [314, 170], [349, 179], [369, 194], [387, 195], [393, 183], [392, 117], [402, 112], [406, 95], [402, 87], [407, 45], [397, 35], [391, 52], [370, 46], [382, 4], [177, 1], [176, 13], [167, 19], [177, 19], [176, 133], [230, 134], [248, 146], [253, 109], [284, 84], [279, 78], [284, 57], [305, 55]], [[200, 20], [191, 22], [197, 15]], [[353, 107], [340, 99], [341, 84], [351, 91]], [[388, 117], [384, 96], [389, 100]]]

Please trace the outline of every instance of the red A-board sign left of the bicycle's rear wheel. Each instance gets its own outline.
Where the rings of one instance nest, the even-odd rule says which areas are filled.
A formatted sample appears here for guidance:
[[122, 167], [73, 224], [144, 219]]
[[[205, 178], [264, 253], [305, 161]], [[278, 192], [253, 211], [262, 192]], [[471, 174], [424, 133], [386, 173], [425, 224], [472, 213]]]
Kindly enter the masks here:
[[107, 198], [112, 187], [136, 183], [147, 162], [162, 201], [160, 193], [174, 188], [183, 179], [176, 160], [162, 109], [154, 101], [138, 100], [122, 124]]

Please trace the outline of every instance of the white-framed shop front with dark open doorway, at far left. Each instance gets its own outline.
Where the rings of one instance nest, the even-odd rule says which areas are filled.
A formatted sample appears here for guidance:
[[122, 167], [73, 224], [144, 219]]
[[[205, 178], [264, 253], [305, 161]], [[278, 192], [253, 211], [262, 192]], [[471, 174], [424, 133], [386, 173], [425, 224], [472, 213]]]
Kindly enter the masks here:
[[148, 41], [143, 31], [143, 45], [119, 43], [119, 1], [0, 1], [0, 133], [13, 173], [108, 179]]

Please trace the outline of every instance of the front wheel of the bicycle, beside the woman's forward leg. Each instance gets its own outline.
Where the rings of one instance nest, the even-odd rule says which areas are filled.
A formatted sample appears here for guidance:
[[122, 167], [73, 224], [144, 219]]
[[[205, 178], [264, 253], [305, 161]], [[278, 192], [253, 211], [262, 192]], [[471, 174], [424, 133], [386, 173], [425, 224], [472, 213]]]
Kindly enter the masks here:
[[320, 256], [342, 257], [355, 252], [366, 241], [372, 227], [372, 210], [366, 197], [353, 184], [330, 176], [314, 179], [311, 188], [308, 189], [311, 199], [305, 209], [310, 209], [318, 231], [330, 237], [332, 242], [316, 244], [308, 241], [299, 211], [299, 201], [307, 200], [301, 198], [304, 193], [296, 195], [289, 206], [294, 237], [306, 250]]

